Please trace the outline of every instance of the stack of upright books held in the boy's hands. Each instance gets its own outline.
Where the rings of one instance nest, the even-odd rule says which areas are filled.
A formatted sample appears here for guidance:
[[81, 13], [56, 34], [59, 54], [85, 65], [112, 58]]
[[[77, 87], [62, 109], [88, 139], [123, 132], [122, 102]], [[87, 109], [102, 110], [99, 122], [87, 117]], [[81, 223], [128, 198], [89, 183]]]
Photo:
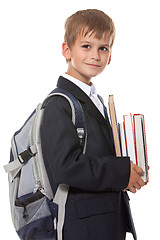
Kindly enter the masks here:
[[141, 177], [144, 182], [148, 182], [148, 155], [144, 115], [124, 115], [123, 123], [117, 123], [113, 95], [109, 96], [109, 111], [116, 156], [129, 156], [134, 164], [143, 169]]

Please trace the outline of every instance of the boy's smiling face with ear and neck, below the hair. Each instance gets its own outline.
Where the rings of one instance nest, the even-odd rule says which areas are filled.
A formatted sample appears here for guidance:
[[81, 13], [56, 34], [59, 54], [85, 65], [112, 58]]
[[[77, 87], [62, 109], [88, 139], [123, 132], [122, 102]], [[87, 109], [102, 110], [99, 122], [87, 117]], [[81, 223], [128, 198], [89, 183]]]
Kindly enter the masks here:
[[63, 43], [63, 55], [68, 60], [67, 73], [90, 84], [91, 78], [101, 73], [110, 62], [110, 43], [110, 36], [97, 39], [90, 33], [86, 36], [78, 35], [71, 49], [67, 43]]

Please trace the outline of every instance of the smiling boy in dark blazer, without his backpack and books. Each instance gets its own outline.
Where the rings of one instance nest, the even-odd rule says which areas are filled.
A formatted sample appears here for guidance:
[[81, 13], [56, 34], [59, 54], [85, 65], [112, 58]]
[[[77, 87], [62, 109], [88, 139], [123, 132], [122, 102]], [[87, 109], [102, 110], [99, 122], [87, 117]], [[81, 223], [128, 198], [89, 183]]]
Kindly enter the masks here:
[[64, 240], [124, 240], [136, 233], [125, 189], [144, 186], [142, 169], [128, 157], [116, 157], [106, 108], [92, 77], [111, 61], [114, 24], [99, 10], [78, 11], [65, 24], [62, 53], [68, 70], [57, 86], [81, 103], [87, 128], [85, 154], [71, 121], [69, 103], [60, 96], [46, 106], [41, 127], [42, 150], [53, 192], [69, 185]]

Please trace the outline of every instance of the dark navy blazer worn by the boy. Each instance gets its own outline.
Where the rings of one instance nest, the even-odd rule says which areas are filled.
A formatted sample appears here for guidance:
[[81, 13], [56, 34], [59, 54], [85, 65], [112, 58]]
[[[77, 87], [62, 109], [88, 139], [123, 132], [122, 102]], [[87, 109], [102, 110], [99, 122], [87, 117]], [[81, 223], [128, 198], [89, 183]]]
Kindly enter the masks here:
[[81, 103], [87, 127], [83, 155], [71, 108], [66, 99], [53, 97], [47, 104], [41, 126], [43, 157], [50, 184], [70, 186], [66, 204], [64, 240], [123, 240], [136, 233], [125, 189], [130, 159], [116, 157], [108, 116], [104, 118], [91, 99], [75, 84], [60, 77], [58, 87]]

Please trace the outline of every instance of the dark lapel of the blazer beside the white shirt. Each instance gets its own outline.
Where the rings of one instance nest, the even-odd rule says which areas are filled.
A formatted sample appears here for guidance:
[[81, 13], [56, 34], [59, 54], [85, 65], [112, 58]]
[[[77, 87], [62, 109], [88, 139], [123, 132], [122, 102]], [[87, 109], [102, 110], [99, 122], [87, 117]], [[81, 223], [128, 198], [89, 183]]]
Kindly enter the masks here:
[[[110, 122], [108, 119], [107, 109], [104, 110], [106, 118], [103, 117], [101, 112], [97, 109], [95, 104], [92, 100], [83, 92], [77, 85], [69, 81], [64, 77], [59, 77], [57, 87], [66, 89], [71, 94], [73, 94], [82, 104], [86, 104], [87, 110], [99, 121], [102, 125], [102, 129], [106, 140], [114, 154], [114, 147], [113, 147], [113, 136], [112, 136], [112, 129], [110, 126]], [[104, 106], [105, 108], [105, 106]]]

